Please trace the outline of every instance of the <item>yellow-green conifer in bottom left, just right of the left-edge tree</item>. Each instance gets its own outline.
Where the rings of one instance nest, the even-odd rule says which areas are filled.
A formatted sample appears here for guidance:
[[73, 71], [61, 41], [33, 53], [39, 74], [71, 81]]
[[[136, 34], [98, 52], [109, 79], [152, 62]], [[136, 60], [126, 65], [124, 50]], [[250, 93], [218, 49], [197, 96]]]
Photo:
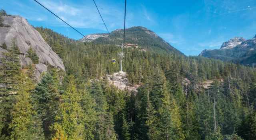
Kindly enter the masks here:
[[11, 140], [44, 140], [40, 121], [33, 110], [30, 95], [22, 89], [16, 97], [9, 125]]

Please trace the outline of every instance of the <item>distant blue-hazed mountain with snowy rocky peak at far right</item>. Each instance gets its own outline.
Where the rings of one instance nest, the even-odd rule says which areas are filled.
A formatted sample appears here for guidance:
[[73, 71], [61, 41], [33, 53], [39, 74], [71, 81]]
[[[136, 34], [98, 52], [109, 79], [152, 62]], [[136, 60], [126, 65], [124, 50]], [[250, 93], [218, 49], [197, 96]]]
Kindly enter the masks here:
[[220, 49], [202, 51], [200, 56], [256, 66], [256, 36], [248, 40], [235, 37], [224, 42]]

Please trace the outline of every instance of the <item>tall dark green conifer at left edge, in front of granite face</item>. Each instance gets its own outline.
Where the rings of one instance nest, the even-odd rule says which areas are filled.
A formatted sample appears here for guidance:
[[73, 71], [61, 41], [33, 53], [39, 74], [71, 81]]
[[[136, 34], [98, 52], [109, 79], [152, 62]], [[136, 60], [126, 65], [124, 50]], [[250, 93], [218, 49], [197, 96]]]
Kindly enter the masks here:
[[8, 126], [12, 121], [11, 112], [15, 97], [18, 94], [21, 83], [21, 70], [19, 49], [15, 43], [15, 39], [12, 40], [12, 47], [8, 52], [3, 52], [3, 57], [0, 58], [0, 106], [3, 109], [0, 112], [0, 121], [3, 126], [1, 130], [1, 136], [10, 136]]

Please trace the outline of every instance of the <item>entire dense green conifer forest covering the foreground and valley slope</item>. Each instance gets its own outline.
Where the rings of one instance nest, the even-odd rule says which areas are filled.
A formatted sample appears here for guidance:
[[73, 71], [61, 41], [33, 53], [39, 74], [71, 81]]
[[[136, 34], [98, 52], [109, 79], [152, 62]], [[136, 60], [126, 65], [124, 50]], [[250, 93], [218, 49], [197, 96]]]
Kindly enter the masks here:
[[[120, 47], [36, 29], [62, 58], [66, 75], [49, 66], [35, 84], [33, 65], [20, 69], [13, 43], [0, 66], [0, 140], [256, 139], [255, 69], [124, 49], [123, 69], [140, 85], [130, 93], [104, 78], [119, 71]], [[212, 81], [208, 88], [206, 80]]]

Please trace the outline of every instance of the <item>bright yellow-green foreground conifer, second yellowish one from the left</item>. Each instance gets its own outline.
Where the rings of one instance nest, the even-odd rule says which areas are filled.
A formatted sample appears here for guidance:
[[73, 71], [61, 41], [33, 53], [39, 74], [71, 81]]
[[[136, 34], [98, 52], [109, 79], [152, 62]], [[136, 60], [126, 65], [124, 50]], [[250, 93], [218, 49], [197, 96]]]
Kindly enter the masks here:
[[[62, 135], [68, 140], [82, 140], [84, 138], [84, 116], [80, 105], [81, 95], [74, 82], [74, 77], [70, 76], [69, 84], [62, 95], [63, 102], [60, 104], [56, 116], [57, 122], [51, 126], [54, 131], [52, 140]], [[60, 134], [60, 132], [64, 132], [64, 134]]]

